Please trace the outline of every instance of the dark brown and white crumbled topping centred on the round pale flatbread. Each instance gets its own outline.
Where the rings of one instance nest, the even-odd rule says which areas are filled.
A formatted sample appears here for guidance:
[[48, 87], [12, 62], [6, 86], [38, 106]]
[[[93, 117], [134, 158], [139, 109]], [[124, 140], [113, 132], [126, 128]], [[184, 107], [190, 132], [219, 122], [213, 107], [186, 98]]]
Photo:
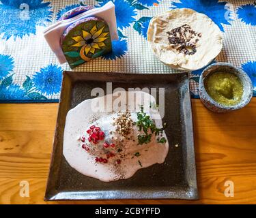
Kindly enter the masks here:
[[197, 42], [202, 36], [201, 33], [193, 31], [189, 25], [172, 29], [167, 34], [169, 35], [169, 43], [173, 45], [173, 48], [185, 55], [194, 55], [197, 52]]

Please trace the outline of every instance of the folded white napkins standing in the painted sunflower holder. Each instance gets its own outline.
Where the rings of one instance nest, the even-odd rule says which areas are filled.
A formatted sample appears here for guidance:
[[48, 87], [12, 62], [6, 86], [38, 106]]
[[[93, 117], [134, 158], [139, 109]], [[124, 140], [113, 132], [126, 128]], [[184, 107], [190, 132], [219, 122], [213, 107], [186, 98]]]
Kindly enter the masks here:
[[48, 45], [51, 47], [51, 50], [53, 50], [53, 52], [57, 56], [59, 63], [62, 64], [67, 62], [65, 56], [63, 55], [60, 44], [60, 39], [63, 31], [65, 31], [70, 25], [72, 25], [72, 23], [83, 18], [87, 18], [89, 16], [96, 16], [106, 21], [109, 25], [111, 40], [118, 40], [117, 22], [115, 18], [115, 5], [112, 1], [109, 1], [102, 7], [91, 9], [67, 20], [61, 20], [59, 22], [56, 22], [54, 25], [47, 27], [44, 30], [44, 38], [46, 39]]

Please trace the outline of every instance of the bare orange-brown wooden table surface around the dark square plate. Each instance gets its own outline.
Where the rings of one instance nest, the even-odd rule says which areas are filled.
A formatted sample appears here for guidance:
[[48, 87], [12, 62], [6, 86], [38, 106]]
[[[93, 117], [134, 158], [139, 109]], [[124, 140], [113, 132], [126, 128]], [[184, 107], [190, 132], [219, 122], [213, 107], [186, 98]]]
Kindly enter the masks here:
[[[256, 203], [256, 98], [242, 110], [214, 114], [193, 99], [200, 200], [108, 200], [103, 204]], [[0, 204], [44, 202], [58, 104], [0, 104]], [[21, 198], [20, 181], [30, 196]], [[225, 181], [234, 197], [224, 195]], [[78, 202], [71, 202], [78, 203]]]

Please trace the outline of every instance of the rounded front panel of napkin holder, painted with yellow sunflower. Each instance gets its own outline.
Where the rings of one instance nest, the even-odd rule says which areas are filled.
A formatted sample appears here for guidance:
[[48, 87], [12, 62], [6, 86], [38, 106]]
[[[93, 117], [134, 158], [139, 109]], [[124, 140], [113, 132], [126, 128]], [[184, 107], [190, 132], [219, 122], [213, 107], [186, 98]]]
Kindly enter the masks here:
[[63, 33], [61, 48], [71, 68], [111, 52], [109, 26], [101, 18], [79, 20]]

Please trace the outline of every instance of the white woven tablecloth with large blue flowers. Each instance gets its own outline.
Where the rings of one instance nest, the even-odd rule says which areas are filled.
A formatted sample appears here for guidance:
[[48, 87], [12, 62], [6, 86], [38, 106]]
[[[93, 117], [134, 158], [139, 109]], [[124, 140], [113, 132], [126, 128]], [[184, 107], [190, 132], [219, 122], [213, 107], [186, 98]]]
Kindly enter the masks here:
[[[79, 5], [99, 7], [108, 0], [0, 0], [0, 102], [57, 102], [61, 73], [42, 32]], [[169, 74], [176, 72], [158, 61], [145, 40], [152, 16], [188, 7], [207, 14], [221, 31], [224, 48], [216, 61], [242, 67], [253, 81], [256, 96], [256, 2], [217, 0], [113, 0], [119, 40], [113, 52], [76, 67], [76, 72]], [[190, 72], [190, 89], [198, 97], [201, 70]]]

